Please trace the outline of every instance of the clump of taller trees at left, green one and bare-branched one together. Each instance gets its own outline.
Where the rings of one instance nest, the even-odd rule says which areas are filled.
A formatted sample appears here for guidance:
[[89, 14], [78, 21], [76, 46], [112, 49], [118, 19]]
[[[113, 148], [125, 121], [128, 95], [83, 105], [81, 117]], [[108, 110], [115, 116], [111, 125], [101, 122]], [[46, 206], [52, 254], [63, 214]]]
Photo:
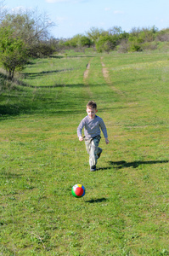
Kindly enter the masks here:
[[54, 54], [52, 26], [48, 15], [39, 14], [37, 9], [8, 12], [0, 2], [0, 64], [8, 79], [13, 79], [14, 73], [22, 70], [30, 58]]

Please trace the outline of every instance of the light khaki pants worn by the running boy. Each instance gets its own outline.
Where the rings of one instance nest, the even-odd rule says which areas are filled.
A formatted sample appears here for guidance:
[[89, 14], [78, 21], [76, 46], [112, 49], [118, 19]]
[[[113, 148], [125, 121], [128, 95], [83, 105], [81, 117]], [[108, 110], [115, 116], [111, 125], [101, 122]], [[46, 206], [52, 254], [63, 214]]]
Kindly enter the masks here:
[[98, 160], [98, 154], [102, 152], [102, 148], [99, 148], [100, 136], [96, 136], [93, 138], [84, 138], [87, 154], [89, 154], [89, 165], [96, 166]]

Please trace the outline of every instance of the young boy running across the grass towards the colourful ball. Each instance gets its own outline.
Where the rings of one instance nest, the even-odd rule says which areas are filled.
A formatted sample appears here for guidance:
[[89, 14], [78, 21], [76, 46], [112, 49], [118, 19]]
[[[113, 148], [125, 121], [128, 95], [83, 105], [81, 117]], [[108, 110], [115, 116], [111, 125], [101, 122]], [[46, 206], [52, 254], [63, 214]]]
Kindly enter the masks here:
[[[100, 128], [103, 131], [105, 143], [110, 143], [107, 136], [107, 129], [104, 125], [104, 120], [96, 115], [98, 112], [97, 104], [93, 101], [87, 103], [87, 116], [82, 119], [77, 128], [77, 136], [79, 141], [85, 140], [87, 154], [89, 154], [90, 171], [96, 171], [97, 160], [102, 153], [102, 148], [99, 148]], [[84, 137], [82, 137], [82, 129], [84, 127]]]

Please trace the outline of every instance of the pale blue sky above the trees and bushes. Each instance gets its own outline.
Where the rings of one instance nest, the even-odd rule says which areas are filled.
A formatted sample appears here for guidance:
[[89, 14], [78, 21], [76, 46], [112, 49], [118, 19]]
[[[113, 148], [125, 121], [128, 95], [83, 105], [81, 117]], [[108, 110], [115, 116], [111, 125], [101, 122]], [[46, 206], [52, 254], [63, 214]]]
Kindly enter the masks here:
[[46, 12], [56, 24], [51, 31], [54, 38], [72, 38], [91, 27], [121, 26], [126, 32], [132, 27], [169, 27], [169, 0], [4, 0], [3, 4], [8, 9]]

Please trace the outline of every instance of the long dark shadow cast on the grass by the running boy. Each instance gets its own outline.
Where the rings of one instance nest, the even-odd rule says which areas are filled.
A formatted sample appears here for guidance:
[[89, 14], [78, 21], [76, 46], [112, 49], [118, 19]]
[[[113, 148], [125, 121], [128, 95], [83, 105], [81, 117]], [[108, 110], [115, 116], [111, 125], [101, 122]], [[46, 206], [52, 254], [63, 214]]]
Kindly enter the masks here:
[[108, 167], [100, 167], [97, 168], [97, 171], [99, 170], [108, 170], [111, 169], [112, 166], [115, 169], [121, 169], [121, 168], [138, 168], [140, 165], [155, 165], [155, 164], [163, 164], [163, 163], [168, 163], [169, 160], [152, 160], [152, 161], [133, 161], [133, 162], [126, 162], [124, 160], [121, 161], [109, 161], [110, 166]]

